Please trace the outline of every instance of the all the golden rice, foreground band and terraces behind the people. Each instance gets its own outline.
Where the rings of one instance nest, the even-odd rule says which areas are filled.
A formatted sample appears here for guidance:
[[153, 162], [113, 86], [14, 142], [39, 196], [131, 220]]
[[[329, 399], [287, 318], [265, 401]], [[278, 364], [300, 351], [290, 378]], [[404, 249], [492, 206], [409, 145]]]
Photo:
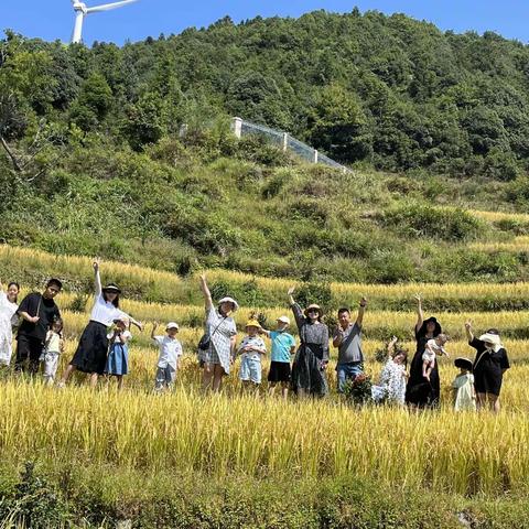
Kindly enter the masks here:
[[[44, 252], [0, 247], [0, 263], [33, 259], [32, 268], [47, 274], [61, 269], [65, 276], [91, 276], [90, 259], [54, 258]], [[10, 261], [10, 262], [11, 262]], [[139, 267], [105, 263], [104, 278], [128, 278], [144, 284], [166, 285], [187, 295], [193, 284], [179, 278]], [[237, 283], [253, 279], [225, 271], [208, 272], [210, 281]], [[105, 280], [105, 279], [104, 279]], [[259, 279], [260, 287], [284, 292], [290, 281]], [[156, 288], [158, 288], [156, 287]], [[179, 290], [180, 289], [180, 290]], [[410, 299], [420, 292], [428, 307], [429, 298], [473, 300], [527, 298], [529, 284], [333, 284], [336, 295], [366, 295], [369, 299]], [[179, 300], [179, 294], [174, 296]], [[196, 299], [196, 296], [194, 298]], [[85, 312], [72, 312], [75, 294], [57, 299], [64, 309], [66, 353], [60, 370], [74, 353], [76, 339], [88, 321], [90, 299]], [[433, 490], [474, 495], [526, 494], [529, 475], [529, 311], [435, 312], [452, 336], [447, 349], [452, 358], [473, 357], [464, 342], [463, 324], [474, 323], [476, 333], [498, 327], [505, 339], [511, 369], [506, 373], [501, 393], [503, 411], [460, 413], [451, 409], [450, 384], [456, 374], [452, 360], [440, 360], [442, 407], [440, 411], [414, 413], [389, 407], [354, 409], [334, 391], [336, 352], [332, 349], [328, 369], [332, 393], [317, 401], [296, 401], [267, 397], [259, 391], [242, 395], [237, 379], [238, 360], [225, 378], [223, 393], [204, 396], [201, 373], [194, 354], [202, 334], [204, 309], [187, 304], [144, 303], [123, 299], [123, 310], [147, 323], [142, 333], [133, 330], [130, 345], [131, 373], [126, 389], [118, 392], [114, 381], [101, 381], [96, 390], [82, 377], [66, 389], [45, 388], [40, 380], [15, 379], [1, 375], [0, 453], [6, 460], [22, 462], [35, 454], [42, 461], [89, 461], [123, 468], [155, 472], [194, 469], [215, 476], [233, 473], [257, 477], [357, 476], [379, 479], [388, 485], [429, 487]], [[239, 331], [256, 307], [236, 313]], [[267, 321], [289, 314], [285, 305], [260, 309]], [[290, 314], [289, 314], [290, 315]], [[427, 315], [430, 315], [427, 313]], [[330, 323], [334, 316], [330, 317]], [[414, 352], [412, 328], [417, 315], [409, 310], [381, 311], [368, 307], [365, 321], [366, 370], [377, 380], [381, 365], [375, 352], [393, 333]], [[175, 320], [182, 324], [180, 338], [185, 355], [174, 393], [154, 395], [156, 348], [149, 343], [151, 323]], [[159, 330], [162, 332], [163, 327]], [[239, 333], [239, 338], [242, 336]], [[269, 344], [269, 343], [268, 343]], [[264, 375], [268, 360], [263, 366]]]

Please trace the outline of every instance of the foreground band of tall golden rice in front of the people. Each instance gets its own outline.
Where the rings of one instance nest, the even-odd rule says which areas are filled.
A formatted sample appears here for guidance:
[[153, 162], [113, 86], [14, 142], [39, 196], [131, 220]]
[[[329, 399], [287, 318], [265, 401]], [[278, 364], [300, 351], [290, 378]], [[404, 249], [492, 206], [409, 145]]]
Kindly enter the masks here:
[[325, 400], [203, 397], [185, 387], [156, 396], [18, 382], [1, 385], [0, 398], [0, 447], [13, 461], [36, 456], [215, 476], [355, 473], [458, 494], [527, 492], [527, 410], [410, 413]]

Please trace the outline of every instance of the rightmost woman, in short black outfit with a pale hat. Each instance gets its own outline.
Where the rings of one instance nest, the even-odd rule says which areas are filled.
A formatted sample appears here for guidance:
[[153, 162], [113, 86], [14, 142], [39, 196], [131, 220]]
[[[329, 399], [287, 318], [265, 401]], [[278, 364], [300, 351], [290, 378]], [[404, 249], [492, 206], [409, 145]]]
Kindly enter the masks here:
[[504, 373], [510, 367], [507, 352], [501, 345], [496, 328], [489, 328], [476, 338], [472, 332], [472, 322], [468, 321], [465, 323], [465, 331], [468, 345], [476, 349], [474, 388], [476, 389], [477, 408], [488, 408], [497, 413]]

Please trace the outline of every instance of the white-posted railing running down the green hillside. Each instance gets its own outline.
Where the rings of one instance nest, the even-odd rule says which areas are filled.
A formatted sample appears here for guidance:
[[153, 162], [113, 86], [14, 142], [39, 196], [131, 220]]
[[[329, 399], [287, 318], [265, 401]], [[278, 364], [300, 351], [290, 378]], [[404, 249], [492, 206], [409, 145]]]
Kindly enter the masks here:
[[342, 165], [338, 162], [331, 160], [325, 154], [317, 152], [316, 149], [307, 145], [306, 143], [303, 143], [300, 140], [296, 140], [288, 132], [270, 129], [269, 127], [264, 127], [263, 125], [245, 121], [241, 118], [233, 119], [231, 130], [237, 138], [242, 138], [244, 136], [248, 134], [262, 136], [267, 138], [271, 143], [278, 145], [284, 152], [291, 151], [310, 163], [323, 163], [324, 165], [337, 169], [339, 171], [343, 171], [344, 173], [350, 171], [350, 169], [346, 168], [345, 165]]

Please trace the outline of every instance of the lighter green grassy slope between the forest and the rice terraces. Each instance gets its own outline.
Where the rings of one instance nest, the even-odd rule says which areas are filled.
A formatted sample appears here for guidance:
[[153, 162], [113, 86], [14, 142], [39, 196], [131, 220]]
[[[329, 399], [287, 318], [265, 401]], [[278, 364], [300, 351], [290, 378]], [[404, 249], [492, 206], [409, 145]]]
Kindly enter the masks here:
[[529, 231], [523, 216], [453, 208], [522, 207], [509, 202], [512, 184], [341, 174], [258, 143], [230, 143], [233, 158], [218, 147], [210, 154], [209, 143], [164, 140], [143, 154], [97, 141], [73, 149], [45, 188], [22, 187], [6, 205], [0, 238], [181, 274], [220, 267], [347, 282], [527, 278], [527, 249], [515, 239]]

